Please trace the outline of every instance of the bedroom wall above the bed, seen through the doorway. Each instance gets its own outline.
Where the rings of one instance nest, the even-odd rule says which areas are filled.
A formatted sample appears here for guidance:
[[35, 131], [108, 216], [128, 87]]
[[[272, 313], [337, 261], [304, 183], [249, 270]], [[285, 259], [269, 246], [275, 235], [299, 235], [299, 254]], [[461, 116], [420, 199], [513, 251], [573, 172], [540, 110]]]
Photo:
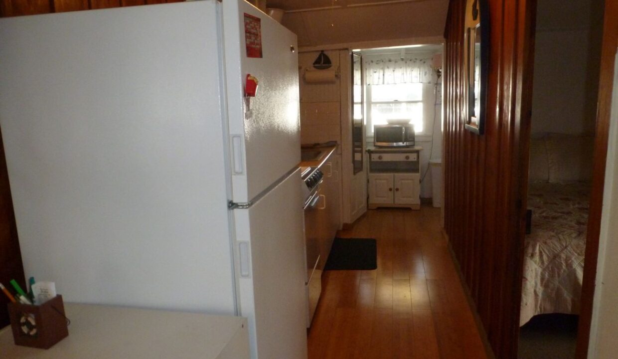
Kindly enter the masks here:
[[602, 1], [539, 1], [533, 134], [594, 132], [603, 26], [599, 3]]

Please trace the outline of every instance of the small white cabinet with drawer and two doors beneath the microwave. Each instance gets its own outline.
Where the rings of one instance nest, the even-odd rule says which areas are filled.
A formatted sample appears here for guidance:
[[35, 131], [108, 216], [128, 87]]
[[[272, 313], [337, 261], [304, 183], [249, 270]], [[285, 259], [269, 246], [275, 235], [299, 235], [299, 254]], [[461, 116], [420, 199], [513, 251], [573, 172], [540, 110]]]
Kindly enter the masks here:
[[420, 209], [420, 148], [369, 152], [369, 208]]

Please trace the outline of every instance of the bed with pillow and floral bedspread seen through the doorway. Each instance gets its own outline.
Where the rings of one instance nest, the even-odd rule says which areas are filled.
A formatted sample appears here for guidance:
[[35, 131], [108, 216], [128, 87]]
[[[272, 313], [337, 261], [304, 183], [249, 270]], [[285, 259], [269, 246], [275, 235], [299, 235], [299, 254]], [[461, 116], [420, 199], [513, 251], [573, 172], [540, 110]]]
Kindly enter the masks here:
[[550, 134], [530, 145], [531, 230], [523, 257], [520, 326], [578, 314], [588, 223], [592, 137]]

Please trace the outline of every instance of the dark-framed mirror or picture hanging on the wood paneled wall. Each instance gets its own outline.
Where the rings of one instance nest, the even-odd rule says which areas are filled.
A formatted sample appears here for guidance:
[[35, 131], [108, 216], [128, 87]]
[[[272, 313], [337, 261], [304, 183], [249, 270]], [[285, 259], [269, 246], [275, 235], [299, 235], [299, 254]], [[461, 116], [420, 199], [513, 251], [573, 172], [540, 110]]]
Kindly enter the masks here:
[[464, 29], [467, 116], [465, 128], [485, 132], [487, 78], [489, 74], [489, 9], [487, 0], [468, 0]]

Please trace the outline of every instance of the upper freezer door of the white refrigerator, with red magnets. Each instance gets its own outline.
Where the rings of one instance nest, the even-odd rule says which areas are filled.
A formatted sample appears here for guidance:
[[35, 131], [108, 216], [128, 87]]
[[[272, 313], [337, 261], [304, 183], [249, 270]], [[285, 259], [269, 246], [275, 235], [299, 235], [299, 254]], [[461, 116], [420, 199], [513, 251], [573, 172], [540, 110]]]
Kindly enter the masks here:
[[[248, 2], [224, 1], [223, 14], [233, 200], [242, 203], [300, 162], [298, 54], [296, 35]], [[247, 57], [245, 14], [247, 31], [260, 29], [262, 57]], [[248, 74], [257, 95], [243, 98]]]

